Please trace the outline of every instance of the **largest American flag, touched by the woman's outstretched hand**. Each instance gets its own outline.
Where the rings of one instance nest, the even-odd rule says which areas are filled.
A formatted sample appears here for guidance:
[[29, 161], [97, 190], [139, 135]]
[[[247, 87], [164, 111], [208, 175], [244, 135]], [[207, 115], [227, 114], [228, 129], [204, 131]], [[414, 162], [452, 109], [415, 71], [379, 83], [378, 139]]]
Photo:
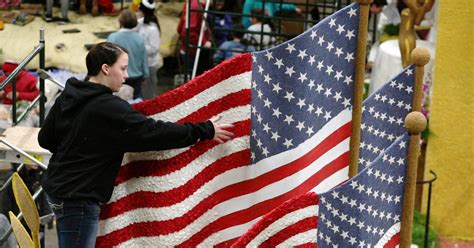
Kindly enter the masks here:
[[285, 201], [345, 181], [358, 13], [347, 6], [136, 105], [160, 120], [220, 115], [236, 136], [127, 154], [102, 207], [98, 246], [228, 246]]

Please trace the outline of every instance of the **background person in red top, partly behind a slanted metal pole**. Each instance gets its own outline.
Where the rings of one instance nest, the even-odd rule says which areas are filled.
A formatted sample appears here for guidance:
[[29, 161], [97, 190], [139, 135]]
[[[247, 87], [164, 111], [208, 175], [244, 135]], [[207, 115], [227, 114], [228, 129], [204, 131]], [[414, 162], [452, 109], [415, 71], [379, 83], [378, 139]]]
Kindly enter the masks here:
[[[205, 1], [201, 2], [200, 0], [191, 0], [191, 10], [203, 10], [205, 6]], [[186, 2], [187, 3], [187, 2]], [[189, 18], [189, 46], [194, 47], [187, 47], [186, 46], [186, 12], [187, 12], [187, 5], [186, 3], [183, 5], [183, 11], [178, 23], [178, 34], [180, 40], [180, 54], [183, 59], [188, 58], [188, 71], [187, 73], [190, 74], [193, 69], [194, 60], [196, 57], [196, 46], [198, 45], [199, 34], [201, 33], [201, 23], [203, 21], [203, 14], [202, 12], [198, 11], [191, 11], [190, 18]], [[210, 37], [211, 37], [211, 30], [208, 25], [204, 25], [203, 36], [202, 36], [202, 43], [201, 43], [201, 53], [199, 56], [199, 61], [197, 65], [196, 76], [202, 74], [203, 72], [212, 68], [212, 52], [209, 49], [212, 46]], [[185, 61], [185, 60], [184, 60]]]

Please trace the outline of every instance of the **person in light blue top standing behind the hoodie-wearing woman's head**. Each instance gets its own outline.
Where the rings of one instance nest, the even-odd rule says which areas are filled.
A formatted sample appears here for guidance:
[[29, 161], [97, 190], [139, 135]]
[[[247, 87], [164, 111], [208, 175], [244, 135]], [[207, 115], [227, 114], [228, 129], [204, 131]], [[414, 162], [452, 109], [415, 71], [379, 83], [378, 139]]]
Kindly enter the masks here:
[[133, 87], [133, 99], [142, 97], [142, 83], [148, 78], [148, 56], [145, 49], [145, 40], [135, 32], [138, 24], [137, 17], [130, 10], [126, 9], [119, 16], [120, 29], [111, 33], [107, 41], [118, 44], [128, 50], [130, 61], [128, 63], [129, 77], [125, 81]]

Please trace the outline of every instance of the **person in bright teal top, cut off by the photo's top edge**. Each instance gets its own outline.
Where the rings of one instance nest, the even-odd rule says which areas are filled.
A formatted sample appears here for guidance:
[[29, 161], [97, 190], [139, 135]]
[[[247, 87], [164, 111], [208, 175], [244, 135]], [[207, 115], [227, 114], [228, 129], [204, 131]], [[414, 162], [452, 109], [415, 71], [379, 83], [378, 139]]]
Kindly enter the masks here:
[[260, 9], [261, 11], [264, 11], [266, 16], [274, 16], [275, 13], [279, 11], [296, 11], [301, 13], [301, 9], [297, 8], [292, 3], [282, 4], [279, 2], [265, 1], [264, 4], [262, 0], [245, 0], [244, 8], [242, 10], [242, 25], [244, 25], [244, 28], [248, 28], [250, 25], [252, 25], [248, 15], [251, 14], [252, 10], [254, 9]]

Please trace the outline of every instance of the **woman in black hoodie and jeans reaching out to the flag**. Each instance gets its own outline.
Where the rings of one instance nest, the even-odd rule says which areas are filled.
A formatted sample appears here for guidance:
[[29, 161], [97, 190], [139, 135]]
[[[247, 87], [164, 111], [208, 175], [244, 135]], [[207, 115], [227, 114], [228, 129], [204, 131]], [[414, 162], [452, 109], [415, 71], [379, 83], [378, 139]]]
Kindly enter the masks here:
[[127, 51], [112, 43], [93, 47], [85, 81], [68, 80], [38, 136], [53, 153], [43, 188], [56, 215], [60, 247], [94, 247], [99, 203], [112, 194], [125, 152], [190, 146], [199, 140], [224, 142], [230, 124], [217, 120], [176, 124], [155, 121], [114, 96], [127, 79]]

